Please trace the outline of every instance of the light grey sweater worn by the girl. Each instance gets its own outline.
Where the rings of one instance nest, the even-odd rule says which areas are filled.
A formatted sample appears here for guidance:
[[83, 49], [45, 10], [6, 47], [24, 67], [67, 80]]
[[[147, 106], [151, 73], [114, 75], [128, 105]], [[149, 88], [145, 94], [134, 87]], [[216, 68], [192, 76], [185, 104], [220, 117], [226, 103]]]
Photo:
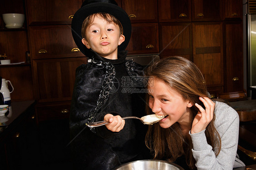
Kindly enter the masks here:
[[245, 166], [236, 154], [239, 135], [239, 116], [233, 108], [225, 103], [215, 103], [215, 127], [221, 138], [221, 150], [215, 156], [212, 147], [208, 145], [205, 130], [191, 134], [192, 153], [196, 160], [197, 170], [232, 170]]

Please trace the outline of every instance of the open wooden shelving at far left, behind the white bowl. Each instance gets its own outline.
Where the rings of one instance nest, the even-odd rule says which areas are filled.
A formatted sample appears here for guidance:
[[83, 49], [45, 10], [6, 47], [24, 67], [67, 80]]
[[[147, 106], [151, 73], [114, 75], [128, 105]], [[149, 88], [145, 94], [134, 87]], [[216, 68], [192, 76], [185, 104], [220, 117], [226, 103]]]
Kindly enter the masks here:
[[[2, 14], [6, 13], [24, 14], [22, 28], [7, 29], [2, 18]], [[11, 65], [0, 65], [0, 75], [10, 80], [14, 86], [14, 91], [10, 94], [11, 101], [34, 99], [31, 60], [26, 59], [26, 51], [30, 51], [26, 23], [25, 0], [1, 0], [0, 55], [5, 54], [7, 57], [0, 60], [10, 60]]]

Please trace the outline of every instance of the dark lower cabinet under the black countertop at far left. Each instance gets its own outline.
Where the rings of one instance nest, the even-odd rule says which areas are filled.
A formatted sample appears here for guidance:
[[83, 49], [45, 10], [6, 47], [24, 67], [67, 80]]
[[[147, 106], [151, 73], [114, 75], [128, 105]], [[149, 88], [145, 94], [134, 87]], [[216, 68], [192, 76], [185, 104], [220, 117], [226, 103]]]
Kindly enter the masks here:
[[[12, 107], [15, 106], [12, 105]], [[26, 102], [23, 102], [22, 107], [27, 107]], [[23, 110], [22, 107], [16, 107], [13, 110]], [[12, 114], [14, 116], [17, 113]], [[12, 121], [6, 129], [1, 131], [0, 153], [0, 158], [2, 158], [0, 160], [1, 169], [17, 170], [37, 168], [40, 157], [34, 105], [31, 105]]]

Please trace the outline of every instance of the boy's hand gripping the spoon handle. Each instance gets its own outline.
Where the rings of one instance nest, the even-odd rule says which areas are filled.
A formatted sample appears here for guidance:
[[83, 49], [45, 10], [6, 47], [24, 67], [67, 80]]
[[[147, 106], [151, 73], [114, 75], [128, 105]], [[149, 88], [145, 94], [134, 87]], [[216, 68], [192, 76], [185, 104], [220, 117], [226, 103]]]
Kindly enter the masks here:
[[108, 130], [111, 130], [113, 132], [119, 132], [123, 129], [123, 126], [125, 124], [125, 121], [119, 115], [113, 116], [111, 114], [107, 114], [104, 116], [104, 120], [109, 122], [105, 126], [108, 128]]

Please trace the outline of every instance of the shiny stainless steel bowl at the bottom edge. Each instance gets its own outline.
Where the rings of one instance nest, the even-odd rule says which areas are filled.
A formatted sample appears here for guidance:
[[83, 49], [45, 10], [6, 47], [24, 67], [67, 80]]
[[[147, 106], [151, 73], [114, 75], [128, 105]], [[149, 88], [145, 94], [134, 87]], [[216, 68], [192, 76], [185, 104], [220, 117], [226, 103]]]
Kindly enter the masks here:
[[137, 160], [118, 166], [114, 170], [184, 170], [179, 165], [164, 160]]

